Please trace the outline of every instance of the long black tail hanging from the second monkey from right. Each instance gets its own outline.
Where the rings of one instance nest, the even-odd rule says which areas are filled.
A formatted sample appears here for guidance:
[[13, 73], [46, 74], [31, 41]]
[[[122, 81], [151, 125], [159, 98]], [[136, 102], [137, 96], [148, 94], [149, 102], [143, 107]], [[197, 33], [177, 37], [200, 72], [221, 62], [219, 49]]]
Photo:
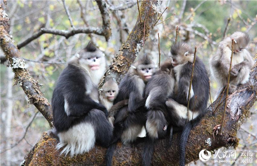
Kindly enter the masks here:
[[187, 144], [187, 139], [189, 136], [190, 131], [200, 122], [201, 116], [198, 116], [194, 120], [190, 120], [183, 128], [182, 134], [181, 134], [181, 139], [179, 143], [179, 165], [180, 166], [185, 166], [185, 159], [186, 159], [186, 144]]

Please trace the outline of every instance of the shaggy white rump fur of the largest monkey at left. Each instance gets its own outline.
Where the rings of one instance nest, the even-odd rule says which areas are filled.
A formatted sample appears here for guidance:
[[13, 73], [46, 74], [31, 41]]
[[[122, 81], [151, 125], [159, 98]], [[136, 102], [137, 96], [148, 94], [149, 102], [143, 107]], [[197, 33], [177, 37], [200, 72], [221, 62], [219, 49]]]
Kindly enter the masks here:
[[96, 142], [95, 130], [91, 123], [79, 123], [72, 126], [68, 131], [60, 132], [58, 134], [60, 143], [57, 144], [56, 149], [64, 147], [60, 152], [65, 156], [70, 153], [70, 156], [83, 154], [92, 149]]

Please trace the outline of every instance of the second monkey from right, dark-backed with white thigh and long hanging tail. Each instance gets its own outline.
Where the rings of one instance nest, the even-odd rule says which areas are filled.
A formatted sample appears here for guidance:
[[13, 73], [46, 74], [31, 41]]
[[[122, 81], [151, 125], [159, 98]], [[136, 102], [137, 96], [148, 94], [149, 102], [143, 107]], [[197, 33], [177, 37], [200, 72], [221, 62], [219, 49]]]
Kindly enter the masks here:
[[[209, 99], [209, 78], [205, 65], [200, 58], [196, 57], [187, 116], [187, 100], [194, 53], [188, 44], [175, 43], [171, 46], [171, 59], [175, 76], [174, 97], [169, 97], [165, 104], [169, 109], [171, 125], [182, 130], [179, 144], [179, 164], [184, 166], [188, 135], [206, 114]], [[188, 122], [186, 123], [186, 121]]]

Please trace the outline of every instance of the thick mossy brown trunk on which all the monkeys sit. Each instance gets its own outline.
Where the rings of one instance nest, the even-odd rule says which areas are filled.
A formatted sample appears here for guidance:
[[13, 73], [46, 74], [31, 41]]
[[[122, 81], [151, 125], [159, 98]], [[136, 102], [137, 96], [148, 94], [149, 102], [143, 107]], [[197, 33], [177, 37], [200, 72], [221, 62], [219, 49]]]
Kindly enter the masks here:
[[[236, 92], [229, 95], [223, 135], [214, 135], [215, 139], [213, 138], [213, 127], [221, 123], [224, 101], [215, 115], [212, 113], [211, 106], [207, 108], [207, 114], [201, 120], [200, 125], [196, 126], [190, 132], [186, 147], [186, 163], [198, 160], [198, 154], [203, 149], [213, 151], [221, 147], [237, 147], [239, 143], [239, 139], [236, 136], [237, 130], [250, 117], [250, 108], [257, 101], [256, 75], [257, 63], [252, 68], [249, 82], [239, 86]], [[213, 103], [215, 104], [215, 102]], [[240, 108], [241, 117], [237, 117], [238, 108]], [[210, 138], [211, 145], [205, 143], [205, 140], [208, 138]], [[155, 146], [152, 165], [178, 165], [179, 139], [180, 133], [175, 133], [170, 148], [167, 147], [169, 138], [159, 140]], [[40, 141], [27, 153], [24, 165], [102, 165], [104, 163], [106, 148], [96, 145], [90, 152], [70, 158], [64, 157], [63, 155], [59, 156], [61, 150], [55, 150], [58, 142], [58, 139], [54, 138], [54, 136], [47, 135], [44, 132]], [[112, 164], [140, 165], [142, 147], [142, 141], [138, 141], [133, 145], [122, 145], [118, 143]]]

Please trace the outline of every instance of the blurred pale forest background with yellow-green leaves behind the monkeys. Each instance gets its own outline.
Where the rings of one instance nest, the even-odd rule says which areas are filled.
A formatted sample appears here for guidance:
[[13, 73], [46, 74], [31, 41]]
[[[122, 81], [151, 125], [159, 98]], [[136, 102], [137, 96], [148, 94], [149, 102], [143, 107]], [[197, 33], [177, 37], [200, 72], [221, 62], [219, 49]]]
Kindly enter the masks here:
[[[65, 2], [74, 27], [102, 26], [101, 14], [95, 1]], [[7, 3], [6, 12], [10, 18], [11, 35], [16, 44], [21, 43], [42, 27], [71, 30], [62, 1], [8, 1]], [[106, 1], [106, 3], [112, 28], [112, 35], [108, 42], [104, 36], [96, 34], [76, 34], [68, 39], [63, 36], [43, 34], [20, 49], [26, 67], [32, 77], [43, 85], [41, 90], [48, 101], [51, 101], [55, 82], [66, 66], [67, 59], [92, 40], [99, 49], [104, 51], [110, 63], [135, 25], [138, 17], [136, 1]], [[158, 21], [161, 24], [155, 25], [140, 53], [151, 54], [156, 63], [158, 62], [157, 34], [160, 33], [161, 59], [164, 60], [169, 54], [171, 44], [175, 41], [177, 26], [178, 41], [189, 43], [192, 49], [196, 45], [197, 56], [203, 59], [207, 69], [209, 58], [215, 54], [225, 29], [227, 29], [226, 36], [235, 31], [247, 32], [251, 39], [247, 49], [252, 56], [256, 54], [256, 0], [163, 1], [161, 11], [166, 7], [168, 9]], [[230, 21], [227, 24], [229, 18]], [[50, 127], [34, 105], [28, 104], [24, 91], [18, 85], [13, 86], [13, 72], [11, 68], [6, 67], [7, 64], [1, 51], [1, 164], [18, 165], [42, 132], [49, 130]], [[210, 80], [211, 96], [214, 101], [217, 84], [213, 79]], [[255, 104], [251, 111], [252, 117], [239, 129], [240, 142], [236, 149], [235, 165], [242, 165], [240, 151], [243, 150], [253, 151], [253, 164], [257, 164], [256, 110]], [[224, 148], [221, 151], [231, 152], [233, 149]], [[211, 160], [191, 164], [213, 165], [213, 163]]]

